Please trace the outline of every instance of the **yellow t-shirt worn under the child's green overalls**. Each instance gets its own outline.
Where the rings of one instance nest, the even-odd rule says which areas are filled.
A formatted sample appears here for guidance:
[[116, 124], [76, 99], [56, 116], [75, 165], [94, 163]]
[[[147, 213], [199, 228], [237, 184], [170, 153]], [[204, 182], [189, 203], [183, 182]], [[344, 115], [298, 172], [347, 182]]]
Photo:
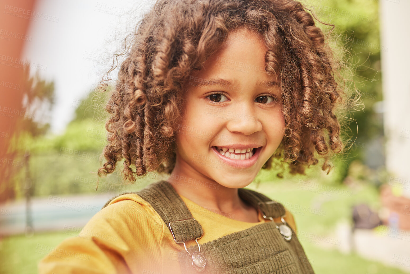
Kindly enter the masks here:
[[[192, 216], [201, 224], [199, 244], [264, 223], [235, 220], [218, 214], [181, 196]], [[224, 215], [224, 216], [222, 216]], [[293, 216], [286, 211], [285, 221], [294, 231]], [[280, 222], [280, 218], [275, 219]], [[187, 247], [195, 240], [185, 242]], [[39, 274], [180, 274], [176, 244], [168, 226], [153, 207], [134, 193], [112, 200], [94, 215], [77, 237], [62, 241], [39, 262]]]

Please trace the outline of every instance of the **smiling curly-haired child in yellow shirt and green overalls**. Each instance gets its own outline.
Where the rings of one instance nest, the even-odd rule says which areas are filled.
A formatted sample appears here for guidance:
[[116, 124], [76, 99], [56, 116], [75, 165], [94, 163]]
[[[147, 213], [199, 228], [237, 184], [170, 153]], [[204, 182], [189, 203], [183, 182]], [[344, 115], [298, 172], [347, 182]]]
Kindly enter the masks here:
[[303, 174], [314, 150], [329, 172], [333, 62], [299, 2], [159, 0], [106, 106], [99, 175], [124, 158], [129, 180], [169, 177], [109, 201], [39, 273], [314, 273], [292, 214], [244, 187], [273, 160]]

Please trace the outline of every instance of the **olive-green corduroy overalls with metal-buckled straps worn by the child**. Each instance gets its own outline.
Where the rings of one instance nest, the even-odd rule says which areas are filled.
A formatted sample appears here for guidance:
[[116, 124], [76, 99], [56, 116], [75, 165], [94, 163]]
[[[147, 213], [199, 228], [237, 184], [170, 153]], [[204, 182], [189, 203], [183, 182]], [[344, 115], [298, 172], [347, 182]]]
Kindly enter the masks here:
[[[186, 241], [202, 236], [202, 226], [169, 182], [155, 182], [133, 193], [150, 203], [175, 242], [185, 246]], [[238, 193], [241, 199], [260, 210], [265, 219], [285, 215], [282, 204], [257, 191], [241, 188]], [[185, 249], [178, 254], [184, 274], [314, 274], [296, 234], [283, 219], [282, 223], [265, 222]]]

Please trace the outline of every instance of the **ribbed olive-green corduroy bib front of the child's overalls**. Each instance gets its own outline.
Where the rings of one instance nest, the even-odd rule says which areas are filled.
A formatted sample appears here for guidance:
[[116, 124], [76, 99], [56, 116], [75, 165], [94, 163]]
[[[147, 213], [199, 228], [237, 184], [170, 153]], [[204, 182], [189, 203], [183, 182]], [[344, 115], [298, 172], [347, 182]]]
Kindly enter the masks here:
[[[198, 247], [188, 248], [189, 253]], [[201, 245], [207, 259], [204, 274], [313, 274], [302, 246], [296, 235], [286, 242], [274, 222], [253, 226]], [[197, 273], [192, 268], [192, 259], [181, 251], [182, 273]]]

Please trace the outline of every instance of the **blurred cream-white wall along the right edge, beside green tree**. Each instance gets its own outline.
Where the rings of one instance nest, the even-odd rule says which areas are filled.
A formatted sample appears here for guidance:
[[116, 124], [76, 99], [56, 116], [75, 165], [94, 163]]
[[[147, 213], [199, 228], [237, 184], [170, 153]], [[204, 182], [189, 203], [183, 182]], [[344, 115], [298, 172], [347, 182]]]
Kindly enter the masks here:
[[[410, 1], [379, 0], [386, 167], [410, 198]], [[405, 182], [405, 183], [404, 183]]]

